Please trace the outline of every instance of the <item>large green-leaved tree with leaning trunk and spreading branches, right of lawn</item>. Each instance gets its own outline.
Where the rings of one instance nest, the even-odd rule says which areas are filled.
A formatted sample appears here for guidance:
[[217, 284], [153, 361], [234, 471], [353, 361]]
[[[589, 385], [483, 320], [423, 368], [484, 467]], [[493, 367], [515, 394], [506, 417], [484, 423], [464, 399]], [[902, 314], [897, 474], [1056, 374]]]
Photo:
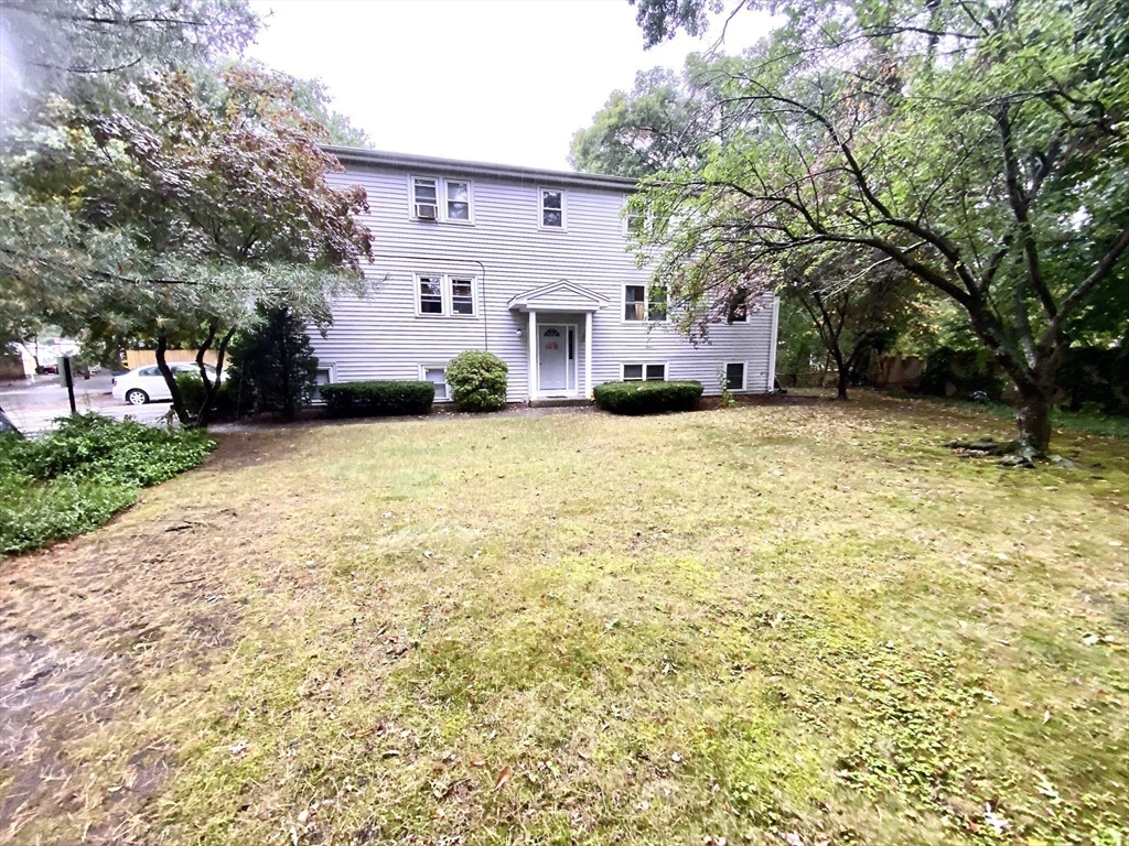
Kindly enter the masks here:
[[[648, 43], [704, 14], [695, 0], [640, 6]], [[1109, 307], [1129, 248], [1129, 17], [1114, 0], [786, 14], [718, 81], [739, 126], [632, 201], [641, 246], [665, 249], [656, 279], [701, 308], [729, 284], [708, 273], [719, 262], [881, 253], [963, 310], [1018, 390], [1012, 446], [1045, 455], [1070, 329]]]

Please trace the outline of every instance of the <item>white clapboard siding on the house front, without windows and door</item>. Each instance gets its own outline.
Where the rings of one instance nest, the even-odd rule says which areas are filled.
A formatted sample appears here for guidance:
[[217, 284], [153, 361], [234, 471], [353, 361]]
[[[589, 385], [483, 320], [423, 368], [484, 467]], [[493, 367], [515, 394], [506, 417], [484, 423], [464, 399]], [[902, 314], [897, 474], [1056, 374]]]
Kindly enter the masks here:
[[[745, 324], [711, 327], [710, 342], [697, 347], [667, 325], [622, 319], [623, 285], [649, 281], [648, 271], [637, 267], [627, 252], [620, 217], [630, 182], [500, 166], [484, 173], [487, 166], [471, 162], [333, 152], [348, 169], [331, 180], [367, 192], [369, 211], [361, 220], [373, 233], [376, 254], [366, 267], [366, 296], [339, 299], [325, 336], [310, 333], [315, 354], [322, 367], [333, 365], [336, 381], [418, 379], [422, 365], [441, 365], [464, 350], [485, 349], [508, 364], [508, 399], [519, 402], [528, 396], [528, 315], [511, 311], [508, 303], [540, 285], [568, 280], [609, 301], [593, 318], [594, 385], [619, 380], [623, 363], [665, 363], [667, 379], [697, 379], [707, 394], [717, 394], [718, 369], [744, 362], [747, 390], [771, 389], [771, 300]], [[413, 220], [412, 175], [469, 180], [473, 223]], [[539, 227], [541, 187], [564, 190], [566, 231]], [[417, 315], [417, 274], [473, 277], [476, 315]], [[539, 312], [537, 324], [577, 326], [583, 386], [585, 316]]]

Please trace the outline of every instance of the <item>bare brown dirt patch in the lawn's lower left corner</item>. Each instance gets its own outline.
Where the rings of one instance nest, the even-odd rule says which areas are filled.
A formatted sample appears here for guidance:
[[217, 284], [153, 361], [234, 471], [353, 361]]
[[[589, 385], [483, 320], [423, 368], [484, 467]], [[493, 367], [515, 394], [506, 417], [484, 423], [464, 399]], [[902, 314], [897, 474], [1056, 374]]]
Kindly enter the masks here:
[[130, 841], [175, 754], [159, 742], [108, 759], [90, 750], [145, 707], [149, 678], [233, 643], [240, 614], [226, 601], [222, 536], [234, 511], [158, 504], [151, 494], [104, 530], [112, 540], [76, 539], [5, 563], [0, 843], [18, 841], [28, 822], [51, 841], [45, 808], [85, 819], [87, 843]]

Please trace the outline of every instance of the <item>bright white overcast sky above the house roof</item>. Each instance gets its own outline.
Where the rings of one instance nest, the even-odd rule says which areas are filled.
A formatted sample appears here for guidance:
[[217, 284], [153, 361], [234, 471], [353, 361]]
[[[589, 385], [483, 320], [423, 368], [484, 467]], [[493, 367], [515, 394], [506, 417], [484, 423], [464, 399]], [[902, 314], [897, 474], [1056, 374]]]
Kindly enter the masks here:
[[[636, 71], [681, 69], [701, 41], [642, 49], [627, 0], [253, 0], [251, 55], [316, 77], [380, 150], [567, 169], [572, 133]], [[744, 10], [726, 52], [765, 18]]]

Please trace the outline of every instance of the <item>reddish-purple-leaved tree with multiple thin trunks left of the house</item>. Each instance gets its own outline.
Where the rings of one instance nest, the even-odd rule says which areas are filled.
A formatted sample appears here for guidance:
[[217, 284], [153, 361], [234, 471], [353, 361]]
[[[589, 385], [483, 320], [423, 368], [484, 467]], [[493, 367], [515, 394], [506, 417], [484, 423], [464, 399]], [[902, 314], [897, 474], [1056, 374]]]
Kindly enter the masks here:
[[[129, 107], [49, 102], [40, 123], [59, 129], [10, 169], [14, 211], [34, 213], [0, 224], [0, 274], [88, 340], [155, 342], [184, 424], [207, 422], [217, 389], [204, 354], [221, 364], [256, 303], [324, 324], [329, 297], [361, 284], [365, 192], [326, 183], [340, 165], [296, 96], [295, 80], [257, 69], [155, 73]], [[200, 409], [165, 363], [183, 344], [198, 350]]]

